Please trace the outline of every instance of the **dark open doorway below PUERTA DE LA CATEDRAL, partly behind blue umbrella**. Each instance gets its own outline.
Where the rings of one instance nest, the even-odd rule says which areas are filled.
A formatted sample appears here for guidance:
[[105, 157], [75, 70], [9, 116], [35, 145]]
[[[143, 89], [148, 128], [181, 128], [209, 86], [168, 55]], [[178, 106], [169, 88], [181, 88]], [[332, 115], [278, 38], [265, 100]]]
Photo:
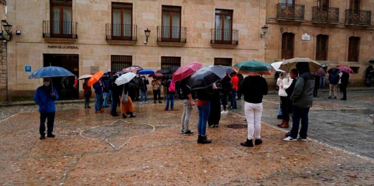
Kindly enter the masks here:
[[[43, 54], [43, 66], [60, 66], [79, 76], [79, 56], [76, 54]], [[74, 77], [52, 78], [59, 99], [78, 99], [79, 81], [74, 86]]]

